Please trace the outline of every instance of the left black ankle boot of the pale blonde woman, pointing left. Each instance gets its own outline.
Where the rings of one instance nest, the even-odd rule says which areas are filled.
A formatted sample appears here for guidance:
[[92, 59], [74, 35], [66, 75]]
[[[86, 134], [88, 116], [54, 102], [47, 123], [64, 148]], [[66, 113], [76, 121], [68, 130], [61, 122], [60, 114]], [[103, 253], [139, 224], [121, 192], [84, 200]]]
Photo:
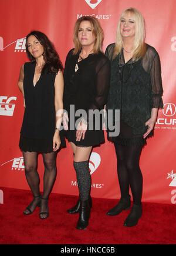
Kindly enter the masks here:
[[111, 208], [107, 212], [107, 215], [109, 216], [114, 216], [120, 214], [121, 211], [123, 210], [128, 210], [131, 207], [131, 201], [130, 201], [130, 195], [128, 195], [128, 198], [120, 198], [119, 204]]

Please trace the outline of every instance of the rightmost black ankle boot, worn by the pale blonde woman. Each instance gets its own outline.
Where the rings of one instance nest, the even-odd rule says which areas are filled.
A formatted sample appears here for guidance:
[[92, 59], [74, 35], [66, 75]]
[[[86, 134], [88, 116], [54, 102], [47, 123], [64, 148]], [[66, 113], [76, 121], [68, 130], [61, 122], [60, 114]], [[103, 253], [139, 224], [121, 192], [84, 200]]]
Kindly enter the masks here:
[[140, 219], [141, 215], [143, 213], [142, 205], [136, 205], [133, 204], [133, 207], [131, 208], [131, 212], [124, 221], [125, 227], [133, 227], [137, 225], [138, 220]]

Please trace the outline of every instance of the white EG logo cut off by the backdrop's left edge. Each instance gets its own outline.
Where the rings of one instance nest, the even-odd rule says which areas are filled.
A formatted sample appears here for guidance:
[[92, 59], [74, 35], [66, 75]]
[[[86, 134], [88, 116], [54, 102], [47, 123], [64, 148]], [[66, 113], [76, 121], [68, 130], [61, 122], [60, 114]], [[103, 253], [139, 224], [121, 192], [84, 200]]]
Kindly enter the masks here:
[[11, 101], [16, 101], [16, 97], [0, 96], [0, 115], [12, 117], [15, 104], [11, 103]]

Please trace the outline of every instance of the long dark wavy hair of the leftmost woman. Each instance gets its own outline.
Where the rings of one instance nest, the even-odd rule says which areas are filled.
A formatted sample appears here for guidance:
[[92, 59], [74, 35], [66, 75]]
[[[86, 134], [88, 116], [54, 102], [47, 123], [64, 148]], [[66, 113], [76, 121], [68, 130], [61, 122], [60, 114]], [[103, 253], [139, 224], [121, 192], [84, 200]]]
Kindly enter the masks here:
[[31, 31], [26, 36], [26, 53], [28, 55], [28, 58], [30, 61], [35, 61], [35, 58], [30, 54], [28, 50], [28, 38], [29, 36], [34, 35], [40, 44], [43, 46], [44, 52], [43, 52], [43, 58], [45, 61], [45, 64], [42, 68], [42, 74], [45, 72], [47, 73], [57, 73], [60, 70], [63, 71], [63, 65], [60, 61], [59, 55], [56, 52], [55, 46], [52, 44], [52, 42], [48, 39], [48, 37], [43, 34], [40, 31]]

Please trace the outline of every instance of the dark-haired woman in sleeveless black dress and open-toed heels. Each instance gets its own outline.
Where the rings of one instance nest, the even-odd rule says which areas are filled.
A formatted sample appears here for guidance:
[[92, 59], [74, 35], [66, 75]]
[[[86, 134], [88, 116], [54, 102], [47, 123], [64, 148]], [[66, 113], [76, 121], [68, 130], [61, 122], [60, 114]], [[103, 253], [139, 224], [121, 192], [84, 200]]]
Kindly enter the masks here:
[[[22, 65], [18, 87], [24, 97], [25, 113], [19, 148], [23, 151], [25, 175], [33, 201], [23, 212], [32, 214], [40, 207], [39, 217], [48, 218], [48, 197], [56, 179], [56, 151], [65, 146], [60, 141], [59, 128], [63, 115], [62, 63], [48, 37], [39, 31], [26, 36], [26, 52], [31, 62]], [[38, 152], [45, 165], [43, 195], [36, 171]]]

